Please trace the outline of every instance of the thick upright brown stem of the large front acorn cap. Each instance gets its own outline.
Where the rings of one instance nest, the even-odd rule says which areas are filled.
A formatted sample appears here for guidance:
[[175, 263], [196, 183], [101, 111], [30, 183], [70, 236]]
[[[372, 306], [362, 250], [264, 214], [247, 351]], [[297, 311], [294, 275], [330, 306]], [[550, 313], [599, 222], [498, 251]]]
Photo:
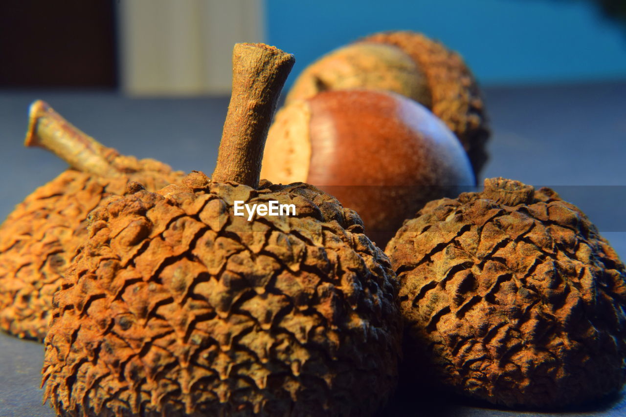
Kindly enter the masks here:
[[295, 58], [274, 46], [233, 48], [233, 88], [212, 181], [259, 185], [267, 131]]

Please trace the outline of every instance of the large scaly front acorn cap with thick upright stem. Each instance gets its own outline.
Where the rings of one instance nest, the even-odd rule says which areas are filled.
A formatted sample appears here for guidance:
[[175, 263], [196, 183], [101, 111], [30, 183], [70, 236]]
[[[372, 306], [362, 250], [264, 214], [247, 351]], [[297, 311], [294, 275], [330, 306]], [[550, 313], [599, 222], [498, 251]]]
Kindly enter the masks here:
[[[388, 259], [335, 198], [259, 184], [293, 61], [237, 44], [213, 178], [92, 212], [46, 338], [57, 413], [364, 416], [389, 396], [401, 318]], [[235, 201], [272, 200], [297, 215], [232, 215]]]

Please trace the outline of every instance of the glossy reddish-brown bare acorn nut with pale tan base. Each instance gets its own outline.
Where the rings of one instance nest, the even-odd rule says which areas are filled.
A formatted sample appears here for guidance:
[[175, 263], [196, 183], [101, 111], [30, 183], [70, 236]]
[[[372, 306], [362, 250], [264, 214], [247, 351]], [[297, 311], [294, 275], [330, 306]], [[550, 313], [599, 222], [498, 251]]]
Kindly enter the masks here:
[[276, 114], [262, 178], [318, 186], [360, 214], [384, 246], [424, 204], [475, 179], [463, 149], [428, 109], [385, 91], [325, 91]]

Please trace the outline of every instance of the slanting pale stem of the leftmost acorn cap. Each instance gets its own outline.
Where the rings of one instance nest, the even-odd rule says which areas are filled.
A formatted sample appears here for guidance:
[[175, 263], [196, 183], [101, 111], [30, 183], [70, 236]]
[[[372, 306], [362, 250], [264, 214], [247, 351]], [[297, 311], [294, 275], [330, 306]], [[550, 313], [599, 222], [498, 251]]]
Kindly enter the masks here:
[[77, 129], [41, 100], [31, 104], [24, 145], [48, 149], [83, 173], [105, 177], [121, 175], [106, 159], [110, 148]]

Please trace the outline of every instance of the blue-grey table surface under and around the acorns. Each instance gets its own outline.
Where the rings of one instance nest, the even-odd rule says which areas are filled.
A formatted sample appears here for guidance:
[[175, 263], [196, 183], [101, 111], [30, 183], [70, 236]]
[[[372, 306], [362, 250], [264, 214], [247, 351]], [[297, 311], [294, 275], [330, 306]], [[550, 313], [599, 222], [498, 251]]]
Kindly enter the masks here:
[[[588, 214], [626, 260], [626, 81], [486, 88], [493, 136], [483, 176], [552, 186]], [[210, 174], [228, 98], [130, 99], [113, 93], [0, 91], [0, 219], [66, 165], [26, 149], [28, 106], [48, 101], [78, 128], [121, 153]], [[43, 346], [0, 333], [0, 417], [52, 416], [41, 404]], [[419, 405], [416, 405], [418, 403]], [[392, 416], [626, 416], [626, 389], [561, 413], [506, 411], [458, 398], [403, 393]]]

